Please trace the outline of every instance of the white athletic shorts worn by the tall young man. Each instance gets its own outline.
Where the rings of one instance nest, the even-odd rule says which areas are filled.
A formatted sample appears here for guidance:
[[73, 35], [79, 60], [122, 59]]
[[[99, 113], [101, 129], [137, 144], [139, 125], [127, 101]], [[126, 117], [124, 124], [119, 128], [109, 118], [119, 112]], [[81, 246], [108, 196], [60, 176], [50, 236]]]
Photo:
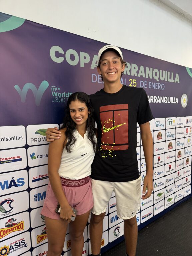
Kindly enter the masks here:
[[92, 213], [99, 215], [106, 212], [113, 191], [117, 203], [117, 215], [121, 219], [131, 219], [140, 207], [141, 177], [128, 182], [110, 182], [91, 179], [93, 193]]

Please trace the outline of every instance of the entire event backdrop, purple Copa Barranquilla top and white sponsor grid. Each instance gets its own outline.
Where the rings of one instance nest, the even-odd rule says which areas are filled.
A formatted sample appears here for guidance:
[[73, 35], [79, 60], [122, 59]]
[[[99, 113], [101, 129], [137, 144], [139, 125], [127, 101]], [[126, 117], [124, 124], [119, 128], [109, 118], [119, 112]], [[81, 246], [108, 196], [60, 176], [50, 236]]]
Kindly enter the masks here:
[[[102, 42], [0, 13], [0, 256], [40, 256], [47, 235], [40, 211], [48, 184], [45, 131], [62, 123], [69, 95], [103, 88], [97, 73]], [[122, 49], [121, 82], [146, 90], [154, 119], [153, 193], [137, 212], [141, 229], [191, 196], [192, 69]], [[146, 175], [140, 129], [141, 191]], [[90, 221], [90, 220], [89, 220]], [[89, 222], [82, 255], [91, 254]], [[123, 239], [114, 193], [101, 247]], [[67, 231], [62, 255], [70, 254]]]

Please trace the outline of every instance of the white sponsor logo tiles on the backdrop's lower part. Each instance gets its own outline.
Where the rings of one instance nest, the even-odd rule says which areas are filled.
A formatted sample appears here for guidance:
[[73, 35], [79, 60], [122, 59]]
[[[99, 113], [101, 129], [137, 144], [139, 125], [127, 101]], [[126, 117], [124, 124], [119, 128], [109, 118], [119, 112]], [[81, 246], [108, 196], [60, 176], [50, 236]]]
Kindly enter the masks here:
[[[138, 225], [144, 223], [146, 220], [157, 215], [191, 193], [192, 136], [188, 136], [187, 134], [189, 128], [185, 127], [187, 122], [185, 120], [185, 117], [172, 117], [156, 118], [153, 121], [153, 193], [147, 200], [141, 200], [140, 209], [138, 209], [136, 216]], [[48, 184], [48, 145], [44, 145], [47, 144], [45, 140], [45, 131], [48, 127], [52, 126], [56, 126], [56, 124], [29, 125], [27, 126], [26, 131], [23, 130], [22, 126], [19, 126], [18, 134], [15, 131], [17, 127], [13, 127], [15, 131], [13, 136], [6, 137], [8, 136], [6, 133], [2, 136], [3, 143], [1, 144], [2, 150], [0, 151], [0, 167], [6, 165], [6, 168], [0, 169], [0, 194], [2, 195], [0, 201], [0, 214], [5, 220], [5, 225], [0, 227], [0, 239], [4, 240], [17, 235], [20, 232], [29, 230], [29, 216], [26, 216], [27, 218], [23, 219], [16, 218], [18, 215], [16, 215], [16, 213], [27, 211], [29, 206], [32, 208], [30, 219], [31, 233], [33, 234], [33, 238], [31, 238], [28, 243], [26, 243], [26, 239], [29, 240], [29, 238], [25, 238], [24, 236], [20, 239], [19, 243], [15, 237], [13, 237], [11, 241], [14, 246], [12, 243], [11, 246], [8, 245], [10, 238], [5, 240], [6, 245], [2, 248], [3, 253], [6, 253], [6, 251], [8, 254], [14, 252], [16, 247], [20, 248], [22, 252], [28, 246], [34, 248], [36, 255], [47, 253], [46, 227], [44, 226], [45, 221], [43, 216], [40, 215], [40, 211], [46, 196]], [[6, 127], [1, 127], [1, 131], [4, 131], [3, 128], [6, 131]], [[146, 175], [146, 163], [139, 132], [140, 130], [138, 130], [137, 133], [137, 159], [141, 175], [142, 189], [143, 180]], [[21, 140], [25, 137], [27, 138], [27, 150], [21, 148], [21, 145], [25, 145], [25, 140], [23, 144], [21, 144]], [[9, 138], [18, 140], [18, 144], [13, 144], [14, 148], [18, 147], [17, 154], [14, 151], [15, 149], [10, 149], [9, 152], [8, 150], [5, 150], [9, 145], [4, 144], [6, 138], [8, 138], [8, 140], [11, 140]], [[28, 175], [27, 170], [24, 170], [24, 168], [27, 167], [27, 161], [29, 166]], [[15, 162], [16, 166], [13, 168], [11, 164], [15, 164]], [[19, 162], [19, 164], [17, 162]], [[4, 170], [6, 170], [6, 172]], [[13, 170], [16, 171], [13, 172]], [[25, 191], [28, 186], [30, 187], [30, 193]], [[22, 201], [19, 200], [20, 197], [25, 197], [28, 201], [26, 201], [25, 204], [22, 204]], [[107, 243], [112, 242], [123, 235], [122, 224], [123, 220], [117, 216], [116, 199], [113, 193], [104, 218], [104, 235], [101, 246], [105, 246]], [[85, 237], [87, 237], [87, 235], [85, 235]], [[66, 241], [64, 246], [64, 251], [66, 252], [70, 252], [70, 237], [68, 240], [69, 241]], [[87, 245], [85, 247], [84, 252], [88, 253], [88, 247], [90, 246]]]

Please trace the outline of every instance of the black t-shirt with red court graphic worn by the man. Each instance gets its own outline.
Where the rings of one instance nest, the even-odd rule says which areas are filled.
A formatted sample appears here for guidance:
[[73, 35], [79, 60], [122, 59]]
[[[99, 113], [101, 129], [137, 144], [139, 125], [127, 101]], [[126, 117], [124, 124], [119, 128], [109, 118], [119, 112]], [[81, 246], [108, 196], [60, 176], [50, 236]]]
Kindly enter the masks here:
[[112, 182], [137, 179], [137, 122], [153, 119], [146, 92], [123, 85], [116, 93], [101, 89], [90, 98], [98, 128], [91, 178]]

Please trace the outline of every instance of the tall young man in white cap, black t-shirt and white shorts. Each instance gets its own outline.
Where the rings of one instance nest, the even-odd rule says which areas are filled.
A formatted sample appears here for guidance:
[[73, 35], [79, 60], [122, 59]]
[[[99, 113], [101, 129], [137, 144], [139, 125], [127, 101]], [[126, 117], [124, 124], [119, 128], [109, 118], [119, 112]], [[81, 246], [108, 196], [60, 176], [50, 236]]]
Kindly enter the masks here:
[[[90, 238], [92, 255], [98, 256], [103, 219], [113, 191], [117, 215], [124, 220], [126, 253], [128, 256], [135, 256], [136, 253], [136, 213], [141, 198], [136, 154], [137, 122], [147, 167], [142, 199], [150, 197], [153, 190], [153, 140], [149, 125], [153, 116], [145, 91], [121, 84], [124, 69], [122, 52], [117, 46], [106, 45], [100, 49], [97, 70], [104, 81], [104, 88], [90, 95], [98, 128], [98, 150], [91, 173], [94, 207]], [[49, 128], [47, 140], [59, 138], [58, 133], [56, 129]]]

